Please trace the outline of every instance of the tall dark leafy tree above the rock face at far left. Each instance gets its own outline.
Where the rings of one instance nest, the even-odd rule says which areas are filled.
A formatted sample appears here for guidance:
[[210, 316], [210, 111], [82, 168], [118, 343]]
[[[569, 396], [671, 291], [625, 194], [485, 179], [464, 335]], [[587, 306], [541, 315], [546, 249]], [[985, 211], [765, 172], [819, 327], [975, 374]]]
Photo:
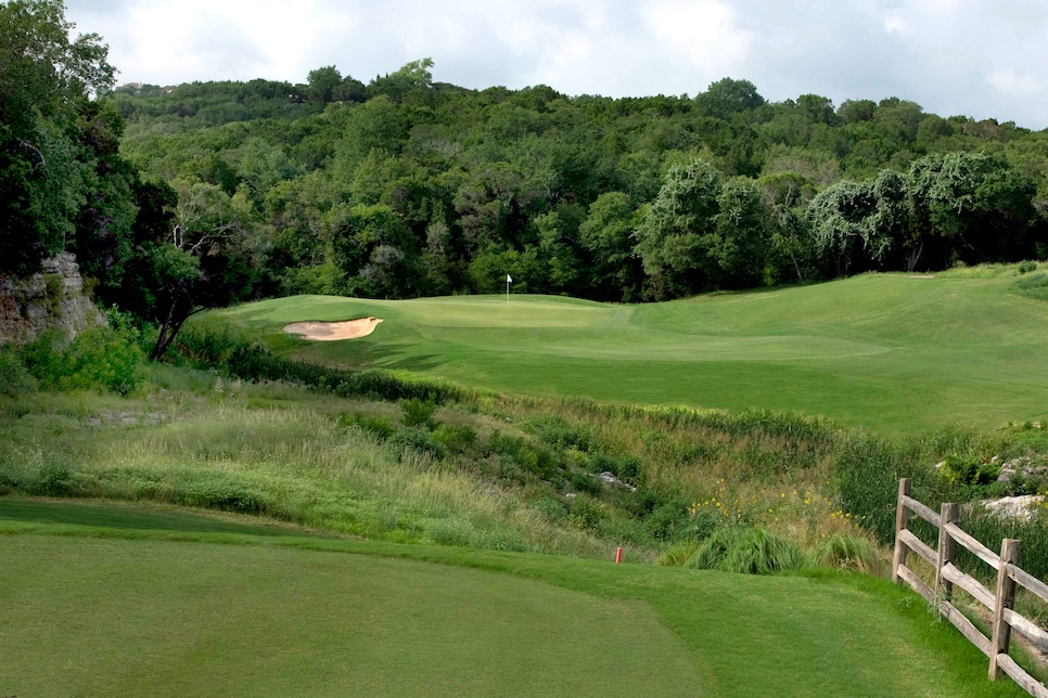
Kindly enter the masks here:
[[71, 40], [64, 12], [60, 0], [0, 4], [0, 272], [60, 251], [89, 191], [76, 116], [115, 69], [97, 35]]

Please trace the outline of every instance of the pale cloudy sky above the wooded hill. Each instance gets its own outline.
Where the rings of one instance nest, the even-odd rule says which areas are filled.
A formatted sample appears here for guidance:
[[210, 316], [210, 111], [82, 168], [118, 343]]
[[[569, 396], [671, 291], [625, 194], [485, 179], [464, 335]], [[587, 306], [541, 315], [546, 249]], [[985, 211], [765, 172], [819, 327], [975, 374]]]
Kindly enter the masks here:
[[432, 57], [483, 89], [694, 95], [723, 77], [766, 99], [911, 100], [1048, 128], [1043, 0], [66, 0], [119, 82], [368, 82]]

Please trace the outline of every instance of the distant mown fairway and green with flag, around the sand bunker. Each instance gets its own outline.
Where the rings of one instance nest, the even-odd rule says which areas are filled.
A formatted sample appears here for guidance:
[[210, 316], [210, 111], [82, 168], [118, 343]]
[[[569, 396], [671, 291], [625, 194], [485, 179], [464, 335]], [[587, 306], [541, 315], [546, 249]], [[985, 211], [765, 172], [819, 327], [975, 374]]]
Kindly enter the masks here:
[[[801, 412], [898, 435], [1048, 414], [1048, 303], [1010, 293], [1014, 279], [873, 274], [643, 306], [302, 296], [228, 316], [301, 358], [355, 369], [540, 396]], [[290, 322], [369, 315], [384, 322], [358, 339], [281, 333]]]

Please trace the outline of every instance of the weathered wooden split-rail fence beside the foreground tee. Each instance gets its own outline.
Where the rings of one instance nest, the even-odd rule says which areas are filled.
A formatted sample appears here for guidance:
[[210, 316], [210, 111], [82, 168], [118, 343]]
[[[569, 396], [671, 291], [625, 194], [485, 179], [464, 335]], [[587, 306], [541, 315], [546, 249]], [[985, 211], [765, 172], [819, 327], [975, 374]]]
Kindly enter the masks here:
[[[937, 551], [907, 529], [910, 513], [938, 529]], [[936, 514], [931, 507], [910, 497], [909, 478], [903, 478], [898, 487], [892, 579], [896, 584], [906, 582], [928, 599], [929, 604], [937, 606], [940, 613], [989, 658], [991, 678], [997, 680], [1004, 672], [1025, 688], [1031, 696], [1048, 698], [1048, 688], [1026, 673], [1008, 654], [1012, 630], [1022, 633], [1041, 647], [1048, 647], [1048, 632], [1030, 619], [1020, 616], [1012, 608], [1017, 584], [1045, 603], [1048, 603], [1048, 584], [1019, 568], [1019, 541], [1005, 539], [998, 555], [961, 530], [957, 524], [956, 504], [943, 504], [942, 510]], [[956, 567], [958, 544], [997, 570], [996, 593]], [[935, 580], [931, 586], [906, 566], [906, 557], [910, 551], [935, 570]], [[983, 635], [975, 624], [954, 606], [955, 586], [966, 591], [993, 615], [993, 632], [989, 637]]]

